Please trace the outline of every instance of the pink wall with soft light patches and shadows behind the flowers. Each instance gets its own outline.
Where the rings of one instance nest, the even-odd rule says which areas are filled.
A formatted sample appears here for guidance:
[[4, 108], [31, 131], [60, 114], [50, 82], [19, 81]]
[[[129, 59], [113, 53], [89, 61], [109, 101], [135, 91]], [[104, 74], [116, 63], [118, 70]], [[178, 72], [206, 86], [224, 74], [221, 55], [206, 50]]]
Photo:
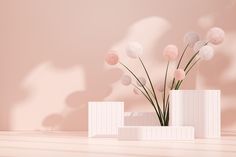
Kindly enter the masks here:
[[234, 0], [2, 0], [0, 129], [86, 130], [91, 100], [124, 100], [126, 111], [152, 110], [131, 87], [120, 85], [124, 70], [105, 65], [106, 52], [119, 50], [135, 68], [124, 46], [142, 43], [144, 62], [157, 81], [166, 44], [182, 49], [185, 32], [204, 37], [219, 26], [226, 32], [224, 44], [184, 88], [221, 89], [222, 127], [236, 130], [235, 15]]

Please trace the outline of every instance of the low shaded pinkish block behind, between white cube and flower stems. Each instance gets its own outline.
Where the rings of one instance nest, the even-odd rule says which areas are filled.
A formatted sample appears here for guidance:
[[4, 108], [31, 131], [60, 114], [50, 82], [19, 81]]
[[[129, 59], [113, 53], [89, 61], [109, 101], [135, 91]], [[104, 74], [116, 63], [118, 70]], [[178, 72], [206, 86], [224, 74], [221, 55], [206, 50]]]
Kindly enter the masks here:
[[125, 112], [125, 126], [157, 126], [159, 120], [155, 112]]

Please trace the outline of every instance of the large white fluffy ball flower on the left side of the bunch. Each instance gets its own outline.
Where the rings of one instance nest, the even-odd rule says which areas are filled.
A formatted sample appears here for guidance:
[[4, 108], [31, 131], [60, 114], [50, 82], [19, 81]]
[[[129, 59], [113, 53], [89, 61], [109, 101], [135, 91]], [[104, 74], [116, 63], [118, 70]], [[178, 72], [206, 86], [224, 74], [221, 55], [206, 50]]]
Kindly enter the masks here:
[[138, 42], [130, 42], [126, 47], [126, 54], [130, 58], [137, 58], [143, 54], [143, 46]]

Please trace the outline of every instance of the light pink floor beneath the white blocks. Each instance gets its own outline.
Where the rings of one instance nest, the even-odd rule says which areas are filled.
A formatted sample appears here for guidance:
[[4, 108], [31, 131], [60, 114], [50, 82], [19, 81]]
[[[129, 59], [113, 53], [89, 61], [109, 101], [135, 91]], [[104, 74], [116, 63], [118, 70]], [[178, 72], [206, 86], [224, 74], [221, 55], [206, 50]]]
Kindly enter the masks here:
[[40, 157], [236, 157], [236, 134], [221, 139], [118, 141], [83, 132], [0, 132], [0, 156]]

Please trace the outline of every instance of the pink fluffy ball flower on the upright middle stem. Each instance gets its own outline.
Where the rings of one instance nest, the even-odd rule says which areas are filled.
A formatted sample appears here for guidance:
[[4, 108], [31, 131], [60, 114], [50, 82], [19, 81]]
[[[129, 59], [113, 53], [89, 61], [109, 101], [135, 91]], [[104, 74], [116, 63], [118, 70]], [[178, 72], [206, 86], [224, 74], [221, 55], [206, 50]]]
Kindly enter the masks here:
[[175, 60], [178, 57], [178, 48], [175, 45], [167, 45], [164, 48], [163, 56], [168, 60]]

